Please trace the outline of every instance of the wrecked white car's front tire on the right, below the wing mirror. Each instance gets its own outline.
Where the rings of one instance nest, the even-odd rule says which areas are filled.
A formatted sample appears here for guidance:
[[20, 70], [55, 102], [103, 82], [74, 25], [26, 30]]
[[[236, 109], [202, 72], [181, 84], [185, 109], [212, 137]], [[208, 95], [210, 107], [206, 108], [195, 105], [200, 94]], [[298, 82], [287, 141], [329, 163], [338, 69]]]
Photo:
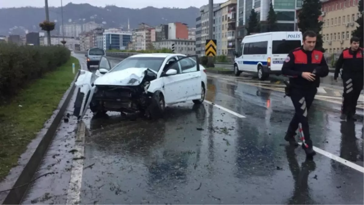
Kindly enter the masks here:
[[166, 102], [162, 92], [154, 92], [151, 99], [151, 104], [146, 110], [146, 116], [149, 119], [159, 119], [163, 117], [164, 111], [166, 109]]

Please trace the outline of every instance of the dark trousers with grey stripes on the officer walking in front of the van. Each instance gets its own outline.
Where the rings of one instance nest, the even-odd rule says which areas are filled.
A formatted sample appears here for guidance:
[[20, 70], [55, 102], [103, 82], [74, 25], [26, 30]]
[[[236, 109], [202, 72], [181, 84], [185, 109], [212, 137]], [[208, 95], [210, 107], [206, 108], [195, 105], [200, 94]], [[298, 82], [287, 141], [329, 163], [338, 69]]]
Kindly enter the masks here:
[[287, 134], [296, 134], [296, 130], [300, 134], [303, 147], [312, 146], [312, 141], [310, 139], [310, 132], [308, 126], [307, 112], [311, 107], [313, 99], [317, 93], [316, 87], [311, 88], [292, 88], [291, 90], [291, 100], [294, 106], [294, 116], [289, 123]]

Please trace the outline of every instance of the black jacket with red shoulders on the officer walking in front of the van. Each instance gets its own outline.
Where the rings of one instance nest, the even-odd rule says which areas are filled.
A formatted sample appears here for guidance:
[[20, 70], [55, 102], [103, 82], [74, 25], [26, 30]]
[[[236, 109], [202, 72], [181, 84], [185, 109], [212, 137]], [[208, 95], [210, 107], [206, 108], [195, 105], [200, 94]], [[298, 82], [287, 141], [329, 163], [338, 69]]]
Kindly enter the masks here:
[[[314, 81], [302, 78], [302, 72], [312, 72], [316, 75]], [[282, 75], [289, 76], [292, 87], [308, 88], [319, 87], [320, 77], [329, 74], [329, 67], [324, 53], [319, 50], [306, 51], [302, 47], [289, 52], [282, 66]]]

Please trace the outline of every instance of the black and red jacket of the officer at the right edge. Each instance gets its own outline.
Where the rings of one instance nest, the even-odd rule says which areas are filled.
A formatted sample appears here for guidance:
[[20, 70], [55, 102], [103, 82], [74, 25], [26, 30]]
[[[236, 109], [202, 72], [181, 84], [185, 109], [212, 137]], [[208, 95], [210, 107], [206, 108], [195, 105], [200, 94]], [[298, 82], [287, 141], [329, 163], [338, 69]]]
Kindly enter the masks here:
[[360, 75], [362, 77], [364, 74], [363, 52], [363, 48], [358, 48], [356, 51], [351, 50], [351, 48], [343, 50], [336, 62], [334, 79], [337, 79], [339, 76], [340, 68], [343, 68], [343, 76], [346, 74], [350, 76]]

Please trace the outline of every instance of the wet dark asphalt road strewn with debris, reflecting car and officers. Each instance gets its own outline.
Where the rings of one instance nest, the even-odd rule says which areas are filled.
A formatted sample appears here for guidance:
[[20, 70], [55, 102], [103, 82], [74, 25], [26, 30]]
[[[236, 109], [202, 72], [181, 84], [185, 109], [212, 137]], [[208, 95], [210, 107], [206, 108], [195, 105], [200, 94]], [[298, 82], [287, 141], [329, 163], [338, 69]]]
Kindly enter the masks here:
[[[208, 83], [206, 100], [246, 118], [192, 102], [168, 107], [158, 121], [88, 112], [80, 204], [363, 204], [363, 173], [321, 154], [305, 161], [300, 147], [285, 146], [293, 106], [282, 92]], [[363, 122], [340, 122], [339, 109], [314, 101], [314, 146], [364, 166]], [[60, 125], [38, 172], [55, 174], [33, 183], [23, 204], [63, 205], [75, 192], [76, 125], [74, 117]]]

